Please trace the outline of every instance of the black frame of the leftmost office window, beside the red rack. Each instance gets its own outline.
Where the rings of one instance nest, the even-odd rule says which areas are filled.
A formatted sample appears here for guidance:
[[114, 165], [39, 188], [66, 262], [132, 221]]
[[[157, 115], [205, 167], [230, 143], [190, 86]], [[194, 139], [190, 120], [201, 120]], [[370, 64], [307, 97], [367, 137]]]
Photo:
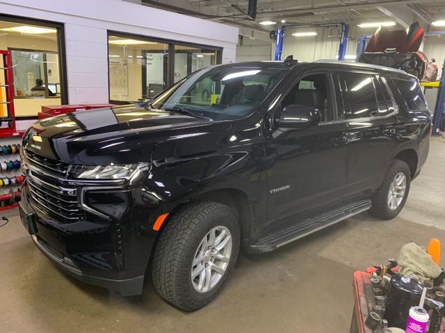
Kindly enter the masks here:
[[[1, 21], [13, 22], [19, 24], [31, 24], [34, 26], [42, 26], [47, 28], [55, 28], [57, 29], [57, 53], [58, 53], [58, 73], [60, 78], [60, 103], [62, 105], [68, 104], [68, 85], [67, 85], [67, 62], [66, 62], [66, 49], [65, 49], [65, 25], [60, 22], [48, 21], [45, 19], [30, 19], [28, 17], [19, 17], [15, 15], [0, 15]], [[9, 48], [8, 48], [9, 49]], [[23, 50], [22, 50], [23, 51]], [[42, 52], [41, 50], [32, 50], [37, 52]], [[48, 52], [48, 51], [44, 51]], [[46, 90], [45, 90], [46, 94]], [[16, 116], [19, 120], [26, 119], [37, 119], [37, 114], [35, 116]]]

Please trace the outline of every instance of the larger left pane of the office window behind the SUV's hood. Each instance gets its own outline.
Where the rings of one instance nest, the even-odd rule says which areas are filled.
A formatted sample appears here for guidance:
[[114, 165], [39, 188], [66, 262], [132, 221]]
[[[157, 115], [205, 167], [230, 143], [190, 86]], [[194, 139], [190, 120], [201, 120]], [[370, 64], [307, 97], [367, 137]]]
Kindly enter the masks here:
[[110, 100], [134, 103], [167, 87], [168, 44], [136, 37], [108, 36]]

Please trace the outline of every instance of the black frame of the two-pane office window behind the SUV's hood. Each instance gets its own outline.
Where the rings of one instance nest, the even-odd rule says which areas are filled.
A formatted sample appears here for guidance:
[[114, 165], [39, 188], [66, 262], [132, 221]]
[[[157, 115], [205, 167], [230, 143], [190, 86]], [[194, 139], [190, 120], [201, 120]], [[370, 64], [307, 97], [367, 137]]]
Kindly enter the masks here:
[[[124, 33], [122, 31], [113, 31], [113, 30], [107, 30], [106, 31], [106, 50], [107, 50], [107, 63], [108, 63], [108, 101], [109, 103], [115, 103], [115, 104], [129, 104], [127, 101], [116, 101], [110, 99], [110, 63], [109, 63], [109, 55], [110, 55], [110, 45], [108, 43], [110, 36], [116, 36], [116, 37], [122, 37], [122, 38], [129, 38], [134, 40], [145, 40], [147, 42], [159, 42], [163, 44], [168, 44], [168, 60], [167, 60], [167, 67], [164, 67], [164, 78], [167, 80], [165, 81], [165, 89], [168, 89], [168, 87], [171, 87], [175, 84], [175, 46], [188, 46], [188, 47], [195, 47], [197, 49], [207, 49], [211, 51], [216, 52], [216, 65], [220, 65], [223, 61], [223, 48], [218, 46], [210, 46], [210, 45], [204, 45], [204, 44], [193, 44], [188, 42], [181, 42], [180, 40], [170, 40], [166, 38], [159, 38], [159, 37], [152, 37], [148, 35], [139, 35], [136, 33]], [[141, 98], [144, 98], [144, 96], [147, 95], [147, 67], [142, 67], [142, 92], [141, 92]], [[145, 90], [144, 90], [145, 89]]]

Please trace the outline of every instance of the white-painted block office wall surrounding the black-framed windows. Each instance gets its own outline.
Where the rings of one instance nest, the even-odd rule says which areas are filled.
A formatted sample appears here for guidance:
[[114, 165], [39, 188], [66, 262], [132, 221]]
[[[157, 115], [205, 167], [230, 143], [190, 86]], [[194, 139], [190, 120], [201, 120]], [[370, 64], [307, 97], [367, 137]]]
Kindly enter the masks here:
[[223, 48], [234, 62], [238, 28], [120, 0], [0, 0], [0, 12], [65, 24], [70, 104], [108, 102], [107, 30]]

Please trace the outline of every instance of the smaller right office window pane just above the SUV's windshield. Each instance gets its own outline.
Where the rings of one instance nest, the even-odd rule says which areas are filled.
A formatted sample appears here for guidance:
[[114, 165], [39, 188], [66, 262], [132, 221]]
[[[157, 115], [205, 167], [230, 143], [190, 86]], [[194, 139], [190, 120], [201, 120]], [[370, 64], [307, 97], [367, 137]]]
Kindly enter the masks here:
[[210, 65], [216, 65], [215, 50], [175, 45], [175, 83], [193, 71]]

